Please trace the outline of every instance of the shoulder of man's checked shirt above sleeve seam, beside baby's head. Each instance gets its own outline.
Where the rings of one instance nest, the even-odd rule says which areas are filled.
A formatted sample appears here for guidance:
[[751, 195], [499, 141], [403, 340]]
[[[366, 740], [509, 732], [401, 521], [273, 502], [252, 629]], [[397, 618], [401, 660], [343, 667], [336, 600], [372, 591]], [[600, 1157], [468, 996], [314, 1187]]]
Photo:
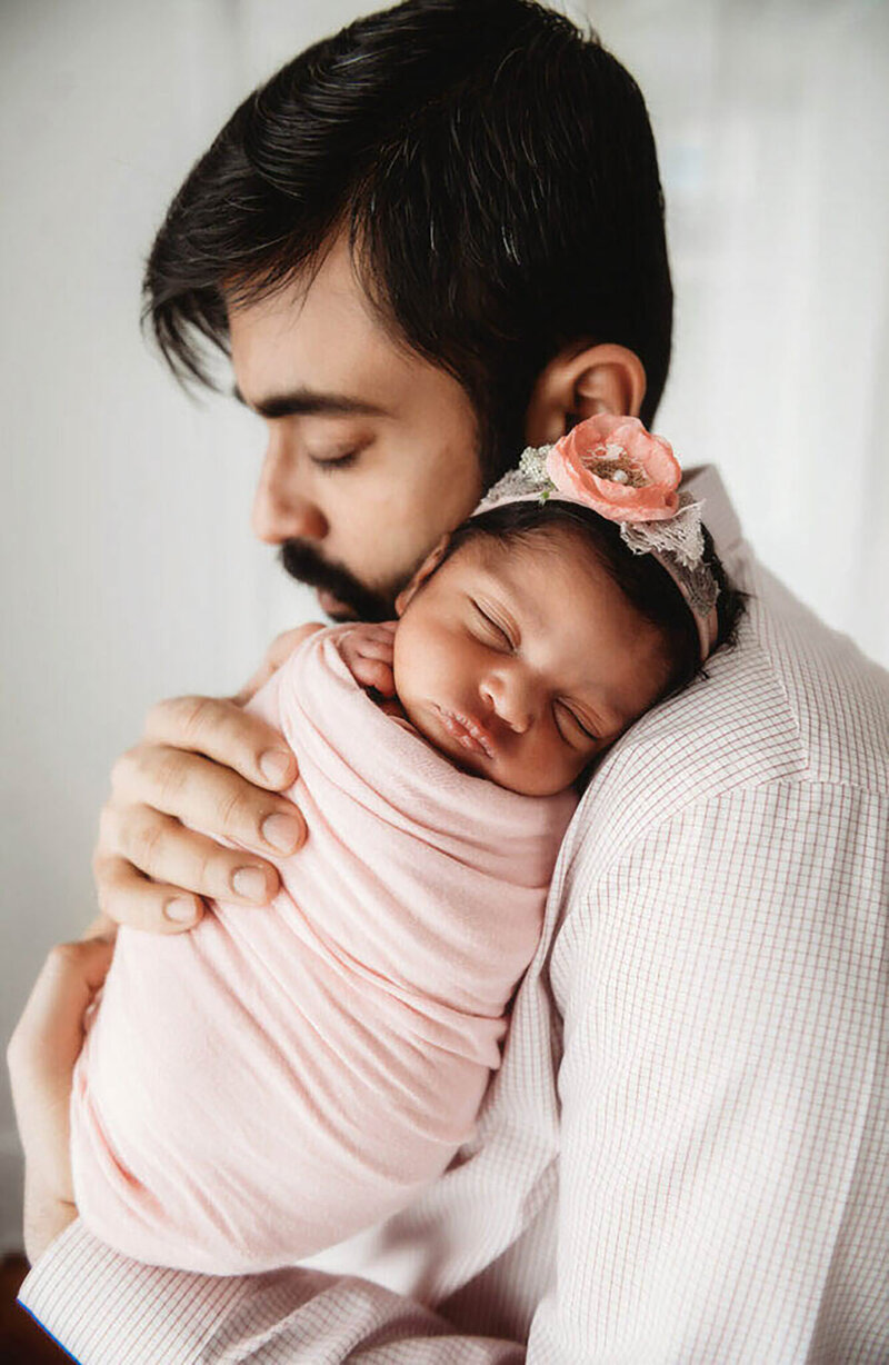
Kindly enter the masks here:
[[737, 642], [595, 773], [574, 838], [615, 844], [695, 803], [800, 782], [889, 794], [889, 676], [747, 558]]

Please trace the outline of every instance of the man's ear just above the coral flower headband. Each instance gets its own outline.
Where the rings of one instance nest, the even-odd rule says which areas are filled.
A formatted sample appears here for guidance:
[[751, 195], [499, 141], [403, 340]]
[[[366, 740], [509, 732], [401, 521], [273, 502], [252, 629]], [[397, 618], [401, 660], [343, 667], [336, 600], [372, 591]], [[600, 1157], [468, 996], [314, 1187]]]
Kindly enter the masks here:
[[549, 445], [597, 412], [635, 418], [645, 388], [642, 360], [625, 345], [608, 341], [580, 351], [568, 347], [549, 362], [534, 385], [524, 438], [528, 445]]

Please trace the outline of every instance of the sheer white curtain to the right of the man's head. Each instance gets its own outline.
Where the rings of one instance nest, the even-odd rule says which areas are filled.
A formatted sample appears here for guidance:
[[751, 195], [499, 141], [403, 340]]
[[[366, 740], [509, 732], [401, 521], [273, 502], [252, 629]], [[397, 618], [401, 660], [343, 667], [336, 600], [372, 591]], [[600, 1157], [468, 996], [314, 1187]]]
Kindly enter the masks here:
[[657, 425], [720, 465], [761, 557], [886, 665], [889, 7], [584, 14], [661, 154], [677, 317]]

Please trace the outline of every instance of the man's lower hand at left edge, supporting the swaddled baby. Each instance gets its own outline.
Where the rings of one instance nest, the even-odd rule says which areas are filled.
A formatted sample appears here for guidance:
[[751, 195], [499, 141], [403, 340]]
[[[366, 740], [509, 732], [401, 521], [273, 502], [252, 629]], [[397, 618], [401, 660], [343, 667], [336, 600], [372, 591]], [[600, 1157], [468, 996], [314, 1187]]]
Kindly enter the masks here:
[[76, 1218], [68, 1151], [71, 1076], [86, 1010], [112, 954], [111, 936], [53, 947], [7, 1048], [25, 1148], [25, 1250], [31, 1264]]

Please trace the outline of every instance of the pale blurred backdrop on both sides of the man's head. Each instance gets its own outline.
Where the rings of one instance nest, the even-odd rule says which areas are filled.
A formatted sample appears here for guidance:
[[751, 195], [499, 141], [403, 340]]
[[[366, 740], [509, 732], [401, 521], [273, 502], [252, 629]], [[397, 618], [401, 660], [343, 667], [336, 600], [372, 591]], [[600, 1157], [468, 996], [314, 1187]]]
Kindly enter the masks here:
[[[0, 1024], [93, 913], [113, 759], [147, 706], [234, 691], [314, 614], [249, 506], [262, 433], [188, 400], [139, 337], [142, 262], [234, 105], [356, 0], [5, 0], [0, 8]], [[645, 90], [677, 291], [657, 427], [714, 460], [750, 538], [889, 662], [888, 7], [589, 0]], [[0, 1239], [19, 1242], [0, 1091]]]

